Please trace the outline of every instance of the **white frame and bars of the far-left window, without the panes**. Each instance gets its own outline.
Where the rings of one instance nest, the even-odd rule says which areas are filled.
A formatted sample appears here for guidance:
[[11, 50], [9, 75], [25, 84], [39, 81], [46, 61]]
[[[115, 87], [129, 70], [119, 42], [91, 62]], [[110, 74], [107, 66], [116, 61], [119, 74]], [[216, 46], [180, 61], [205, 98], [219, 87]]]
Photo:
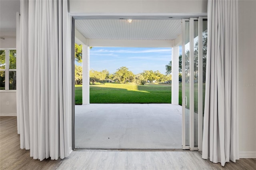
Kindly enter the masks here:
[[[9, 69], [10, 67], [10, 50], [16, 50], [16, 58], [17, 58], [17, 49], [16, 48], [0, 48], [0, 50], [5, 50], [5, 69], [0, 69], [0, 71], [4, 71], [5, 74], [5, 83], [4, 83], [4, 90], [0, 89], [0, 92], [14, 92], [17, 90], [17, 87], [15, 90], [10, 90], [10, 71], [16, 71], [17, 70], [17, 65], [16, 69]], [[17, 60], [16, 60], [17, 64]], [[16, 71], [17, 73], [17, 71]], [[16, 74], [17, 75], [17, 74]]]

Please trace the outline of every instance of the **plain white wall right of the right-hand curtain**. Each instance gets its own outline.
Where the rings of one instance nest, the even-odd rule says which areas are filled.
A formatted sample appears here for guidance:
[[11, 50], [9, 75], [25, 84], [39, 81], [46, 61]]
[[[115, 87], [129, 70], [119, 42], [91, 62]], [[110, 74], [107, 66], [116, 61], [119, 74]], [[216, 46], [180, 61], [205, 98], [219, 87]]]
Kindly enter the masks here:
[[256, 1], [238, 1], [240, 157], [256, 158]]

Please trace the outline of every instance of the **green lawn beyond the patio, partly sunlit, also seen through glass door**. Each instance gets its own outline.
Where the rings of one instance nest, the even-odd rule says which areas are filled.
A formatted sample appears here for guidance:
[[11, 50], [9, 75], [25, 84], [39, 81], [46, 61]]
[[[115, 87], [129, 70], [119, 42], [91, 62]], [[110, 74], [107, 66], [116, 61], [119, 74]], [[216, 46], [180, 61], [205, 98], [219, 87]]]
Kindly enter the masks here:
[[[194, 85], [197, 94], [197, 83]], [[203, 94], [205, 85], [203, 86]], [[106, 83], [90, 85], [90, 103], [171, 103], [171, 85], [133, 83]], [[189, 83], [186, 83], [187, 108], [189, 109]], [[194, 101], [197, 101], [197, 95]], [[203, 99], [204, 101], [204, 99]], [[75, 103], [82, 105], [82, 85], [75, 86]], [[179, 83], [179, 105], [182, 105], [182, 83]], [[195, 111], [197, 105], [194, 105]]]

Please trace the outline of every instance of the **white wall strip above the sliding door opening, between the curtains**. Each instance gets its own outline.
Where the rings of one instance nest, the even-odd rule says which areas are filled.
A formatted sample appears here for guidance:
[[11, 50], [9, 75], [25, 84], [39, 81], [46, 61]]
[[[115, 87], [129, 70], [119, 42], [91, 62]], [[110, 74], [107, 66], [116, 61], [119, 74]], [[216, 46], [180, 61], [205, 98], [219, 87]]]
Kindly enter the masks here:
[[207, 0], [69, 0], [70, 14], [206, 16]]

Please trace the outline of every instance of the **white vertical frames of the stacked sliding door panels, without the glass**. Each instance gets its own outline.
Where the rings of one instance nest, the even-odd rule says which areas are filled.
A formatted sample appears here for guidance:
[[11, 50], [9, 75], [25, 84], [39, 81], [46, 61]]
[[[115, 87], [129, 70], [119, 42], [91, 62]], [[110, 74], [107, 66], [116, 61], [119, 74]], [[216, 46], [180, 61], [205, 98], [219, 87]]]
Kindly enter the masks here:
[[[198, 150], [202, 151], [202, 134], [203, 134], [203, 75], [202, 75], [202, 23], [207, 16], [200, 16], [198, 18], [190, 18], [182, 20], [182, 149], [183, 150]], [[194, 20], [198, 20], [198, 146], [194, 146]], [[185, 94], [185, 22], [190, 24], [190, 121], [186, 125], [186, 94]], [[189, 145], [186, 146], [186, 126], [189, 126]]]

